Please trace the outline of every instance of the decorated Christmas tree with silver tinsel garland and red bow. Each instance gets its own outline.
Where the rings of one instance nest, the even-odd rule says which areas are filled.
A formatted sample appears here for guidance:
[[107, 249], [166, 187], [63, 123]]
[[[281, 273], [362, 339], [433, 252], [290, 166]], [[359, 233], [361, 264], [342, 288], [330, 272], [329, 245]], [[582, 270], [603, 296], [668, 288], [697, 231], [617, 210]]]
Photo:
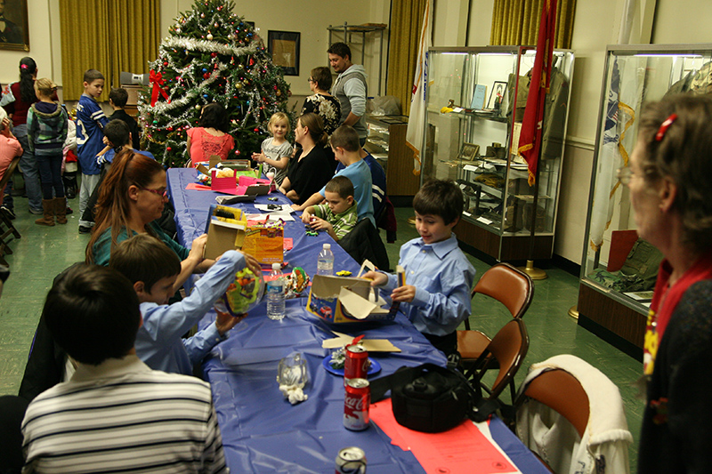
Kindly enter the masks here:
[[289, 84], [262, 39], [224, 0], [198, 1], [182, 12], [150, 63], [150, 86], [139, 99], [143, 143], [167, 166], [188, 161], [186, 130], [201, 108], [218, 102], [230, 116], [231, 158], [259, 151], [275, 112], [287, 113]]

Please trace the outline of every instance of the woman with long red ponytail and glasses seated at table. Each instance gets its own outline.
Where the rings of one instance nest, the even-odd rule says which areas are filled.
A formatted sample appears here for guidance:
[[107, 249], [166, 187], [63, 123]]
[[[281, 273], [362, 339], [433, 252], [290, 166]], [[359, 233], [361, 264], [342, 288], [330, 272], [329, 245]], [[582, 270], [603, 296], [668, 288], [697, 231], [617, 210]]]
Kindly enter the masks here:
[[155, 222], [163, 212], [166, 194], [163, 165], [133, 149], [122, 150], [101, 182], [96, 203], [96, 225], [86, 245], [86, 263], [108, 265], [111, 250], [128, 237], [150, 234], [168, 245], [181, 259], [174, 288], [191, 273], [203, 273], [214, 263], [203, 260], [206, 235], [193, 240], [190, 250], [168, 237]]

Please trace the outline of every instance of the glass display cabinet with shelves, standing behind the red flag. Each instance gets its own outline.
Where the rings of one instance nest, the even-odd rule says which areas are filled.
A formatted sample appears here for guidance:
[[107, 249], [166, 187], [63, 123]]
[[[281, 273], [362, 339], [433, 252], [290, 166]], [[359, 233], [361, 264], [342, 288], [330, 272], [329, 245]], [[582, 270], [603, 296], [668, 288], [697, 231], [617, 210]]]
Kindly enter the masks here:
[[423, 179], [457, 182], [465, 195], [457, 238], [498, 261], [549, 259], [554, 249], [574, 55], [554, 51], [538, 183], [530, 186], [517, 148], [535, 54], [486, 46], [428, 56]]

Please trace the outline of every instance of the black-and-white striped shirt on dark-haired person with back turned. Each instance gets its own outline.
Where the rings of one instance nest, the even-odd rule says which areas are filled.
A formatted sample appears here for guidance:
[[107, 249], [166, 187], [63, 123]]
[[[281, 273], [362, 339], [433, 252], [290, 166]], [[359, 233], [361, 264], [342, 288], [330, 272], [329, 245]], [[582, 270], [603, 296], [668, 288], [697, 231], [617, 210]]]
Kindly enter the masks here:
[[22, 422], [28, 472], [228, 472], [206, 382], [135, 356], [79, 364]]

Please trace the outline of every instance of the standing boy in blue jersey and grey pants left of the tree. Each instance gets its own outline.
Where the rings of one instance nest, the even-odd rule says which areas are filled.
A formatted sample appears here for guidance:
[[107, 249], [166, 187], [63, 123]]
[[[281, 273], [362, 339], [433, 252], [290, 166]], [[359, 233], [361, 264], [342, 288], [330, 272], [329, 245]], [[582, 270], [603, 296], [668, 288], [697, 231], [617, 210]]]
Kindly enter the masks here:
[[[82, 168], [82, 186], [79, 189], [79, 215], [83, 215], [86, 203], [99, 183], [101, 168], [96, 155], [104, 148], [104, 125], [107, 118], [96, 99], [104, 90], [104, 76], [96, 69], [84, 73], [84, 93], [77, 105], [77, 158]], [[79, 232], [92, 229], [93, 222], [79, 220]]]

